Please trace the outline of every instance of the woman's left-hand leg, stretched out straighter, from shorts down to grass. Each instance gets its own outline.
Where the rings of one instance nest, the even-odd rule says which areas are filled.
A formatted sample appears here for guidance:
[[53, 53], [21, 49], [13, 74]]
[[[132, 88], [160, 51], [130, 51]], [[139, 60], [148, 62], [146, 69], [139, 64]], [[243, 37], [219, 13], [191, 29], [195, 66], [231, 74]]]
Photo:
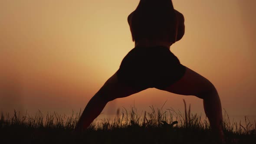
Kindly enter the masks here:
[[108, 101], [123, 98], [140, 92], [118, 82], [116, 73], [105, 82], [100, 90], [91, 98], [86, 105], [77, 125], [76, 130], [86, 129], [92, 121], [102, 112]]

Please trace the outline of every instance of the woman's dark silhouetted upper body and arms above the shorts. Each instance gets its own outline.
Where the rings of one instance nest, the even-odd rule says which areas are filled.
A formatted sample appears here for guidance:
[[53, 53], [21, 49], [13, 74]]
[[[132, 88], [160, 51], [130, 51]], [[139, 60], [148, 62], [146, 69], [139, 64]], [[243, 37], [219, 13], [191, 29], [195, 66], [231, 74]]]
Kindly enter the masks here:
[[173, 9], [171, 0], [141, 0], [128, 23], [135, 47], [169, 48], [184, 35], [184, 17]]

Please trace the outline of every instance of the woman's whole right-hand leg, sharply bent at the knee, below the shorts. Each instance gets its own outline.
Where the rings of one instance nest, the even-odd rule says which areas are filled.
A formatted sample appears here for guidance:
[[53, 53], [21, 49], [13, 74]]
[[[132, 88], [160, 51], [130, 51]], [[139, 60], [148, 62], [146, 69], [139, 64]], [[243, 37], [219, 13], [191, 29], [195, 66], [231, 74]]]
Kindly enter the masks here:
[[214, 85], [202, 75], [186, 67], [184, 76], [167, 88], [161, 89], [179, 95], [194, 95], [203, 99], [203, 107], [212, 130], [223, 140], [222, 108]]

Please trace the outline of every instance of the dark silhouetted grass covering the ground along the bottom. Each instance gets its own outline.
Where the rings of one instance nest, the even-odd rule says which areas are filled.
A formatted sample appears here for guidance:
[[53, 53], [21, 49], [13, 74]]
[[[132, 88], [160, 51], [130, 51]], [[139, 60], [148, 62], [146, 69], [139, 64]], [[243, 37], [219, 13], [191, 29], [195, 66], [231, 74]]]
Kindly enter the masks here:
[[[80, 113], [72, 116], [57, 113], [44, 116], [41, 111], [36, 115], [1, 115], [0, 141], [5, 143], [26, 144], [217, 144], [210, 131], [207, 119], [192, 114], [190, 106], [181, 113], [173, 109], [154, 108], [139, 113], [118, 109], [114, 120], [94, 121], [82, 133], [73, 130]], [[224, 132], [227, 144], [255, 144], [256, 122], [252, 124], [245, 117], [246, 124], [232, 123], [224, 112]], [[4, 142], [4, 143], [3, 143]]]

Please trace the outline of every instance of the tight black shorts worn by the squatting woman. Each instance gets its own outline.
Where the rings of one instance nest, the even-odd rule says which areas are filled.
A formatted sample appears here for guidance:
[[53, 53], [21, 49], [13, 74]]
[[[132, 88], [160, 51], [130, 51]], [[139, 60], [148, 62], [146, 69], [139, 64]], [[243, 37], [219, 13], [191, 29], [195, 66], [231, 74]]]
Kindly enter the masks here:
[[164, 89], [184, 75], [186, 67], [164, 46], [135, 47], [122, 60], [118, 82], [136, 90]]

